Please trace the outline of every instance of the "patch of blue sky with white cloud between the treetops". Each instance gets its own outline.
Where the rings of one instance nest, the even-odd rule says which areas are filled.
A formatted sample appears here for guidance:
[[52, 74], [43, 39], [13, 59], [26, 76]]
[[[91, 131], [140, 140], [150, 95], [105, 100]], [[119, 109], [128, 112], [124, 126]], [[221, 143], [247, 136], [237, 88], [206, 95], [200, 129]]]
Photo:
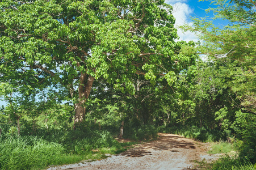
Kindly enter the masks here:
[[[204, 10], [210, 6], [210, 2], [208, 1], [198, 2], [197, 0], [166, 0], [165, 3], [168, 3], [171, 6], [173, 6], [173, 15], [176, 18], [176, 25], [182, 25], [184, 23], [192, 24], [190, 17], [194, 16], [213, 16], [212, 14], [205, 14]], [[223, 21], [219, 22], [223, 24]], [[215, 24], [218, 23], [215, 22]], [[182, 33], [182, 31], [178, 29], [178, 35], [180, 37], [179, 40], [198, 41], [194, 33], [191, 32]], [[1, 101], [0, 99], [0, 107], [1, 105], [6, 105], [6, 103], [4, 101]]]

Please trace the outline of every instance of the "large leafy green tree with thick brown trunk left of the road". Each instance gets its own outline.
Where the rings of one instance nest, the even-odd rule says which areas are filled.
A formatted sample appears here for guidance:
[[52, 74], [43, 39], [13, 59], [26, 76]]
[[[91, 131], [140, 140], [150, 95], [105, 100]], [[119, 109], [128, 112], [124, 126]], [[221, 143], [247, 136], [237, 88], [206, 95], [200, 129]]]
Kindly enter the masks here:
[[171, 84], [191, 61], [163, 0], [3, 0], [0, 10], [1, 81], [64, 87], [75, 124], [96, 79], [133, 93], [134, 74]]

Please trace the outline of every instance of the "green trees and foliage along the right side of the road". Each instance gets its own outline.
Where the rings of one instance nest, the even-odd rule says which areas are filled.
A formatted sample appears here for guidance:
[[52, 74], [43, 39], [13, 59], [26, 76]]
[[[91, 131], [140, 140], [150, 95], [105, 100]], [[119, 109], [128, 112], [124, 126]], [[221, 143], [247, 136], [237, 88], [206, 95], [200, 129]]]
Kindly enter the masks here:
[[[213, 108], [219, 111], [208, 114], [215, 112], [221, 129], [232, 129], [243, 139], [242, 156], [255, 162], [256, 3], [216, 0], [211, 4], [216, 7], [206, 11], [213, 11], [213, 19], [229, 20], [228, 25], [216, 26], [207, 18], [194, 18], [192, 27], [183, 26], [184, 30], [197, 33], [201, 40], [198, 50], [208, 57], [208, 63], [199, 69], [196, 78], [197, 86], [207, 87], [208, 91], [197, 90], [195, 94], [205, 95], [204, 101], [215, 101]], [[220, 57], [219, 54], [229, 51], [228, 55]], [[210, 94], [213, 94], [211, 100], [206, 98]]]

